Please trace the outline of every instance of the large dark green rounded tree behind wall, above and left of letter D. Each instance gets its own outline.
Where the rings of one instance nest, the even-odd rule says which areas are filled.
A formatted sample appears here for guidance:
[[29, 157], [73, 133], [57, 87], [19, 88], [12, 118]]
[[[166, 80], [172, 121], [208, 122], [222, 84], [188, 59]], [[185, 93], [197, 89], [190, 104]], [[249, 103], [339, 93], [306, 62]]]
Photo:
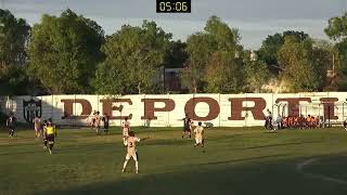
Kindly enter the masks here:
[[43, 15], [33, 27], [29, 75], [51, 93], [89, 93], [104, 31], [93, 21], [70, 10], [59, 17]]

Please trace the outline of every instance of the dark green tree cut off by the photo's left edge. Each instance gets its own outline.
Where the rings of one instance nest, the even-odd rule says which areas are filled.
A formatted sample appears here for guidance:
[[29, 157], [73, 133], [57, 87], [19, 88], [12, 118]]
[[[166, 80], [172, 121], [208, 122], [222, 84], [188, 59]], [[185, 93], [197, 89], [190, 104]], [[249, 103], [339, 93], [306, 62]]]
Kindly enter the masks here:
[[26, 46], [30, 26], [8, 10], [0, 9], [0, 94], [23, 94], [28, 83], [25, 74]]

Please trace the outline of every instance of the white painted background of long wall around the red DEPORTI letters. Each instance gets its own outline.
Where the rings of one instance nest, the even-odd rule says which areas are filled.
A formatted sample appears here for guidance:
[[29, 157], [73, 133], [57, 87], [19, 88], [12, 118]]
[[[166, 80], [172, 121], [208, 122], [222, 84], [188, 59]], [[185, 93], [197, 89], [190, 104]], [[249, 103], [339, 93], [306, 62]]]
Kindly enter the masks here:
[[[211, 98], [219, 103], [220, 113], [217, 118], [208, 120], [216, 127], [244, 127], [244, 126], [262, 126], [264, 120], [255, 120], [250, 112], [242, 112], [242, 116], [247, 117], [244, 120], [230, 120], [228, 117], [231, 116], [231, 102], [229, 99], [232, 98], [262, 98], [266, 101], [266, 108], [262, 110], [266, 114], [266, 109], [269, 108], [273, 112], [273, 116], [278, 115], [278, 108], [274, 107], [274, 103], [279, 98], [310, 98], [312, 103], [300, 103], [300, 114], [307, 116], [308, 114], [314, 116], [322, 116], [323, 105], [320, 104], [321, 98], [336, 98], [338, 102], [335, 102], [334, 113], [338, 117], [336, 121], [343, 121], [347, 116], [347, 104], [344, 102], [347, 99], [347, 92], [319, 92], [319, 93], [247, 93], [247, 94], [141, 94], [141, 95], [125, 95], [120, 99], [130, 99], [132, 105], [127, 103], [114, 103], [114, 106], [124, 106], [121, 113], [114, 110], [114, 116], [126, 116], [132, 114], [132, 119], [130, 120], [132, 126], [143, 126], [146, 121], [141, 119], [144, 115], [144, 103], [142, 99], [171, 99], [175, 101], [175, 109], [171, 112], [156, 112], [156, 120], [151, 120], [152, 127], [180, 127], [182, 126], [182, 119], [184, 117], [184, 106], [185, 103], [193, 98]], [[25, 122], [23, 101], [29, 101], [30, 99], [35, 101], [41, 100], [42, 107], [42, 119], [52, 118], [55, 123], [59, 125], [82, 125], [88, 123], [88, 119], [64, 119], [64, 103], [61, 102], [63, 99], [83, 99], [90, 102], [92, 110], [100, 110], [103, 114], [103, 105], [100, 102], [102, 99], [107, 99], [103, 95], [47, 95], [47, 96], [2, 96], [0, 99], [1, 109], [5, 113], [13, 112], [17, 119]], [[284, 105], [284, 103], [282, 104]], [[164, 107], [163, 103], [155, 103], [155, 107]], [[243, 107], [253, 107], [254, 102], [243, 102]], [[74, 104], [73, 115], [79, 116], [81, 114], [81, 105]], [[195, 107], [196, 115], [204, 117], [209, 113], [209, 106], [206, 103], [197, 103]], [[280, 106], [280, 114], [287, 115], [287, 106]], [[120, 120], [111, 120], [111, 126], [119, 126]]]

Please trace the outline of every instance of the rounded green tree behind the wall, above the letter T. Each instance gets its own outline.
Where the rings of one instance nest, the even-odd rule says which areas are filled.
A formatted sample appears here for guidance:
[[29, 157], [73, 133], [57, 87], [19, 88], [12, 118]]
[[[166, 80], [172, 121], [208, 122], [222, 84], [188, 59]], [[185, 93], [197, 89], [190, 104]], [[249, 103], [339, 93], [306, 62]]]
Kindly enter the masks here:
[[322, 90], [326, 68], [324, 63], [314, 60], [317, 56], [311, 39], [300, 41], [293, 36], [285, 37], [279, 63], [283, 69], [281, 78], [293, 92]]

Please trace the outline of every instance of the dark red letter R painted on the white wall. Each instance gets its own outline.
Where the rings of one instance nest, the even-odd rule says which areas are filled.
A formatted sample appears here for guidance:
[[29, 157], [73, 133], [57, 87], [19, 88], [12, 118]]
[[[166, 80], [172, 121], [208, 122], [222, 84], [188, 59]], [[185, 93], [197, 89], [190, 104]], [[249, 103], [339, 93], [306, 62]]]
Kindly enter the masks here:
[[[254, 102], [254, 107], [243, 107], [242, 103], [245, 101]], [[262, 110], [267, 107], [267, 102], [261, 98], [237, 98], [229, 99], [231, 102], [231, 116], [229, 120], [244, 120], [245, 117], [242, 117], [243, 110], [250, 110], [255, 120], [264, 120], [265, 115]]]

